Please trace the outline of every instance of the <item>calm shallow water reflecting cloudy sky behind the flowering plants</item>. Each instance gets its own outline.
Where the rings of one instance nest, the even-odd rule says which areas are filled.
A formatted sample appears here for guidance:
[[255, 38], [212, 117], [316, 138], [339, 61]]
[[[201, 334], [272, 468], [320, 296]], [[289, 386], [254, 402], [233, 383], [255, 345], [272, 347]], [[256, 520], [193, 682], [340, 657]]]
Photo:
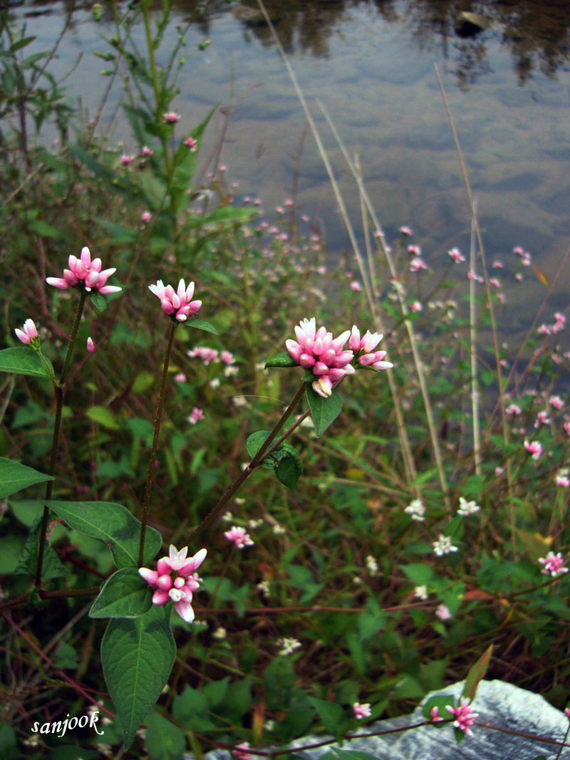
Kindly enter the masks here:
[[[570, 245], [570, 3], [288, 0], [266, 5], [321, 131], [353, 224], [359, 227], [356, 188], [317, 99], [349, 153], [359, 155], [388, 241], [397, 238], [399, 226], [410, 226], [413, 242], [422, 246], [434, 268], [447, 261], [453, 246], [467, 253], [470, 230], [467, 195], [435, 78], [437, 65], [477, 196], [486, 252], [490, 261], [500, 256], [505, 262], [509, 320], [515, 313], [519, 326], [525, 325], [529, 300], [540, 303], [545, 291], [530, 268], [524, 282], [515, 283], [513, 247], [531, 252], [534, 264], [552, 277]], [[11, 8], [11, 17], [27, 21], [28, 33], [37, 36], [35, 49], [49, 48], [68, 19], [50, 70], [60, 77], [81, 55], [65, 84], [90, 116], [109, 84], [100, 74], [108, 65], [93, 54], [109, 49], [110, 8], [103, 9], [99, 24], [90, 3], [24, 2]], [[255, 0], [247, 7], [222, 0], [175, 4], [172, 40], [176, 24], [192, 22], [175, 109], [188, 128], [212, 106], [231, 102], [221, 160], [229, 179], [239, 182], [238, 194], [260, 196], [268, 213], [295, 195], [299, 210], [324, 230], [329, 249], [348, 252], [315, 142], [255, 8]], [[462, 9], [483, 14], [480, 33], [458, 35]], [[205, 40], [210, 44], [196, 52]], [[120, 118], [121, 97], [116, 81], [99, 129], [113, 141], [127, 140], [124, 150], [129, 152], [135, 145], [128, 144]], [[223, 129], [224, 111], [214, 119], [211, 145]], [[553, 293], [550, 316], [567, 306], [568, 271]], [[512, 306], [519, 305], [513, 312]]]

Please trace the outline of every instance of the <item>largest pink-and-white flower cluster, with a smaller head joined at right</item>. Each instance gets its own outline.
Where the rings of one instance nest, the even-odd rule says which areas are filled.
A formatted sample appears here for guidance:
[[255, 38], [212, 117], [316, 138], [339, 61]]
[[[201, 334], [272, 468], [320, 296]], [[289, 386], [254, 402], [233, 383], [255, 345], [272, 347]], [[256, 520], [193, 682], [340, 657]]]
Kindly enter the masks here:
[[[335, 383], [352, 375], [355, 371], [353, 360], [358, 366], [370, 366], [372, 369], [389, 369], [390, 362], [383, 361], [386, 352], [374, 351], [382, 335], [366, 332], [361, 339], [356, 325], [352, 331], [345, 330], [337, 338], [324, 327], [316, 329], [315, 317], [303, 319], [295, 328], [297, 340], [286, 340], [287, 351], [294, 361], [305, 369], [310, 369], [317, 378], [312, 382], [312, 389], [319, 396], [328, 398]], [[349, 350], [344, 344], [349, 341]]]

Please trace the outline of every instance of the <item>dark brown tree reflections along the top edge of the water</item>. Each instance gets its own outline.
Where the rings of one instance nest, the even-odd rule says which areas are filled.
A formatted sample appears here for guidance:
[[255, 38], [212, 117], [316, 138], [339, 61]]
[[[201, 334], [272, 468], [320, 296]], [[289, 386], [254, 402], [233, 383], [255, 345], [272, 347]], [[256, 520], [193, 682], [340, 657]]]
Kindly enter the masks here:
[[[27, 17], [46, 13], [55, 3], [33, 0], [3, 7], [24, 8]], [[131, 5], [133, 5], [131, 3]], [[239, 4], [226, 0], [173, 0], [173, 9], [182, 22], [192, 24], [204, 36], [211, 34], [214, 19], [232, 13], [242, 25], [246, 42], [255, 38], [262, 46], [274, 46], [271, 32], [263, 21], [256, 0]], [[90, 11], [92, 2], [63, 0], [57, 7], [66, 13]], [[161, 0], [154, 0], [160, 11]], [[265, 0], [281, 43], [287, 52], [330, 55], [331, 36], [337, 33], [350, 12], [367, 8], [388, 24], [403, 24], [422, 51], [441, 50], [451, 62], [459, 86], [464, 89], [486, 74], [489, 40], [501, 40], [511, 52], [518, 82], [524, 85], [536, 71], [556, 78], [570, 60], [570, 2], [568, 0]], [[59, 11], [61, 12], [61, 11]], [[462, 14], [480, 17], [481, 26], [465, 31]], [[113, 6], [104, 7], [105, 21], [112, 21]], [[20, 15], [20, 13], [17, 13]]]

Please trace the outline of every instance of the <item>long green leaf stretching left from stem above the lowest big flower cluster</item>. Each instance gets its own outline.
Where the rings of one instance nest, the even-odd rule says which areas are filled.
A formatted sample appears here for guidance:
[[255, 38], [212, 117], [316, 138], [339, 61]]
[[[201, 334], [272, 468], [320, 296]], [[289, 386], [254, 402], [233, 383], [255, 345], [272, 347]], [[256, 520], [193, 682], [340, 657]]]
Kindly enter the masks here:
[[[75, 530], [107, 543], [118, 568], [138, 568], [141, 523], [121, 504], [110, 502], [43, 502]], [[144, 563], [157, 555], [163, 540], [158, 530], [147, 526]]]

